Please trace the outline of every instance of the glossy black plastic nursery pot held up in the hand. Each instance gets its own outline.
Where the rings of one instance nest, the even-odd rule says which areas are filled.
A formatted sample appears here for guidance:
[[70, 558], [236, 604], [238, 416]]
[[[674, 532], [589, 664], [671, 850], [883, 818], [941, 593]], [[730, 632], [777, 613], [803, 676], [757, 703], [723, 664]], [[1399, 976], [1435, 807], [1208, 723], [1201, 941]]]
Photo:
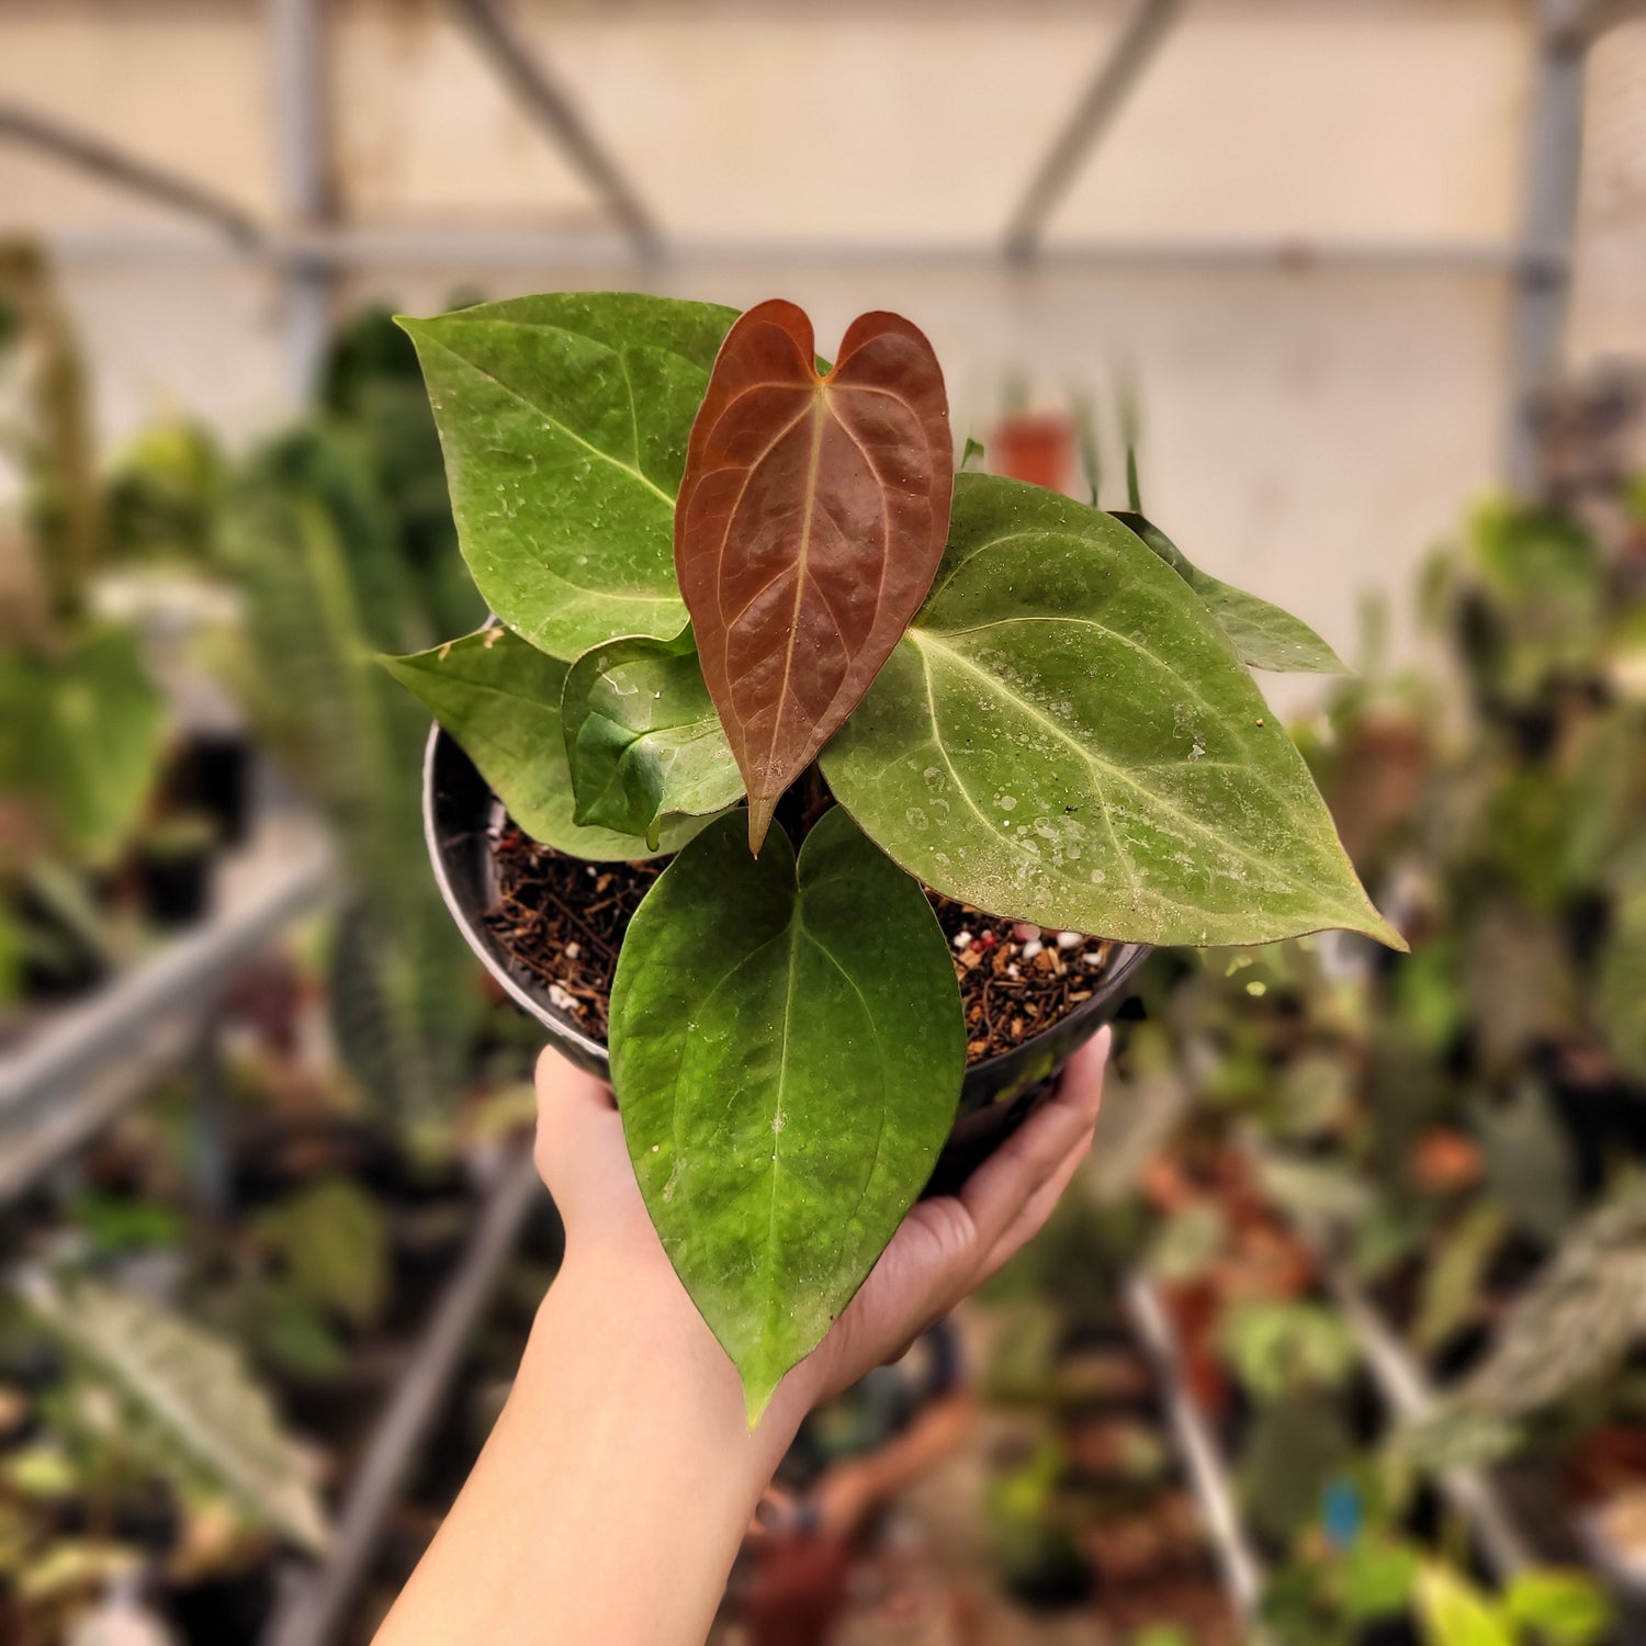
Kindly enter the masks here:
[[[430, 731], [423, 760], [423, 833], [435, 864], [435, 879], [469, 948], [509, 997], [530, 1012], [553, 1044], [579, 1068], [606, 1078], [606, 1045], [578, 1027], [520, 978], [509, 950], [486, 925], [497, 902], [492, 844], [504, 820], [502, 802], [491, 792], [474, 762], [438, 726]], [[1146, 943], [1126, 943], [1093, 991], [1045, 1034], [966, 1070], [955, 1129], [938, 1159], [927, 1193], [945, 1193], [971, 1174], [1022, 1124], [1050, 1090], [1057, 1070], [1090, 1040], [1126, 1002], [1132, 973], [1151, 953]]]

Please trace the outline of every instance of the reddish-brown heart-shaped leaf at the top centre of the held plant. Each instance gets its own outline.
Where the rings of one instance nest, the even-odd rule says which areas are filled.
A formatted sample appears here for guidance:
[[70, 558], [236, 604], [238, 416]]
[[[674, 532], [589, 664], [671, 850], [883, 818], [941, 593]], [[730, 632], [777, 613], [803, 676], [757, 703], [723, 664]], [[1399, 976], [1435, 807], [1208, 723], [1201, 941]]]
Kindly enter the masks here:
[[909, 321], [858, 316], [826, 377], [811, 344], [780, 300], [732, 326], [675, 518], [680, 593], [756, 851], [925, 597], [955, 471], [943, 374]]

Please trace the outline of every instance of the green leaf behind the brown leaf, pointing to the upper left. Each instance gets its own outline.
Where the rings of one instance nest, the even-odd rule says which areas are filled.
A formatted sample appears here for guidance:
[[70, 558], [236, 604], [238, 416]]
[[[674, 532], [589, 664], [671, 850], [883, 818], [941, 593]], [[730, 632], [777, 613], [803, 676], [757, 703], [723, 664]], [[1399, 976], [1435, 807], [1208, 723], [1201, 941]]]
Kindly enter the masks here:
[[463, 555], [487, 604], [571, 662], [678, 634], [675, 494], [736, 309], [548, 293], [402, 319], [423, 362]]

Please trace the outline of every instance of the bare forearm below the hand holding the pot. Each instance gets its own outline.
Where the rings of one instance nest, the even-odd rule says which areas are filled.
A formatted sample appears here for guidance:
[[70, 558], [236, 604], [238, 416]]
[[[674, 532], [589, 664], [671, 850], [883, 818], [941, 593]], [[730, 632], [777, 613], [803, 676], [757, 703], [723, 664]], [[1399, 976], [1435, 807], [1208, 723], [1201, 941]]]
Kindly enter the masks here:
[[678, 1287], [568, 1266], [377, 1646], [700, 1646], [803, 1404], [751, 1435]]

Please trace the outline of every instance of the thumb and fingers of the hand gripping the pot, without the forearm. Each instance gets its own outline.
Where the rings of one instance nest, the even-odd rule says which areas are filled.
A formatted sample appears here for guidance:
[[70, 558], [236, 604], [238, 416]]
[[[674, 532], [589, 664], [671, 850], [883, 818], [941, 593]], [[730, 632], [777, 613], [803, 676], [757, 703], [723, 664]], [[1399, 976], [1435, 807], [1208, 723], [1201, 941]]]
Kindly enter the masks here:
[[[798, 1422], [899, 1358], [1039, 1233], [1091, 1147], [1109, 1040], [1103, 1029], [1068, 1062], [1052, 1098], [958, 1195], [915, 1203], [833, 1330], [783, 1379], [774, 1409]], [[696, 1310], [645, 1215], [609, 1088], [546, 1050], [537, 1090], [537, 1164], [566, 1225], [568, 1266], [607, 1269], [616, 1295], [657, 1309], [665, 1330], [688, 1330], [685, 1315]]]

